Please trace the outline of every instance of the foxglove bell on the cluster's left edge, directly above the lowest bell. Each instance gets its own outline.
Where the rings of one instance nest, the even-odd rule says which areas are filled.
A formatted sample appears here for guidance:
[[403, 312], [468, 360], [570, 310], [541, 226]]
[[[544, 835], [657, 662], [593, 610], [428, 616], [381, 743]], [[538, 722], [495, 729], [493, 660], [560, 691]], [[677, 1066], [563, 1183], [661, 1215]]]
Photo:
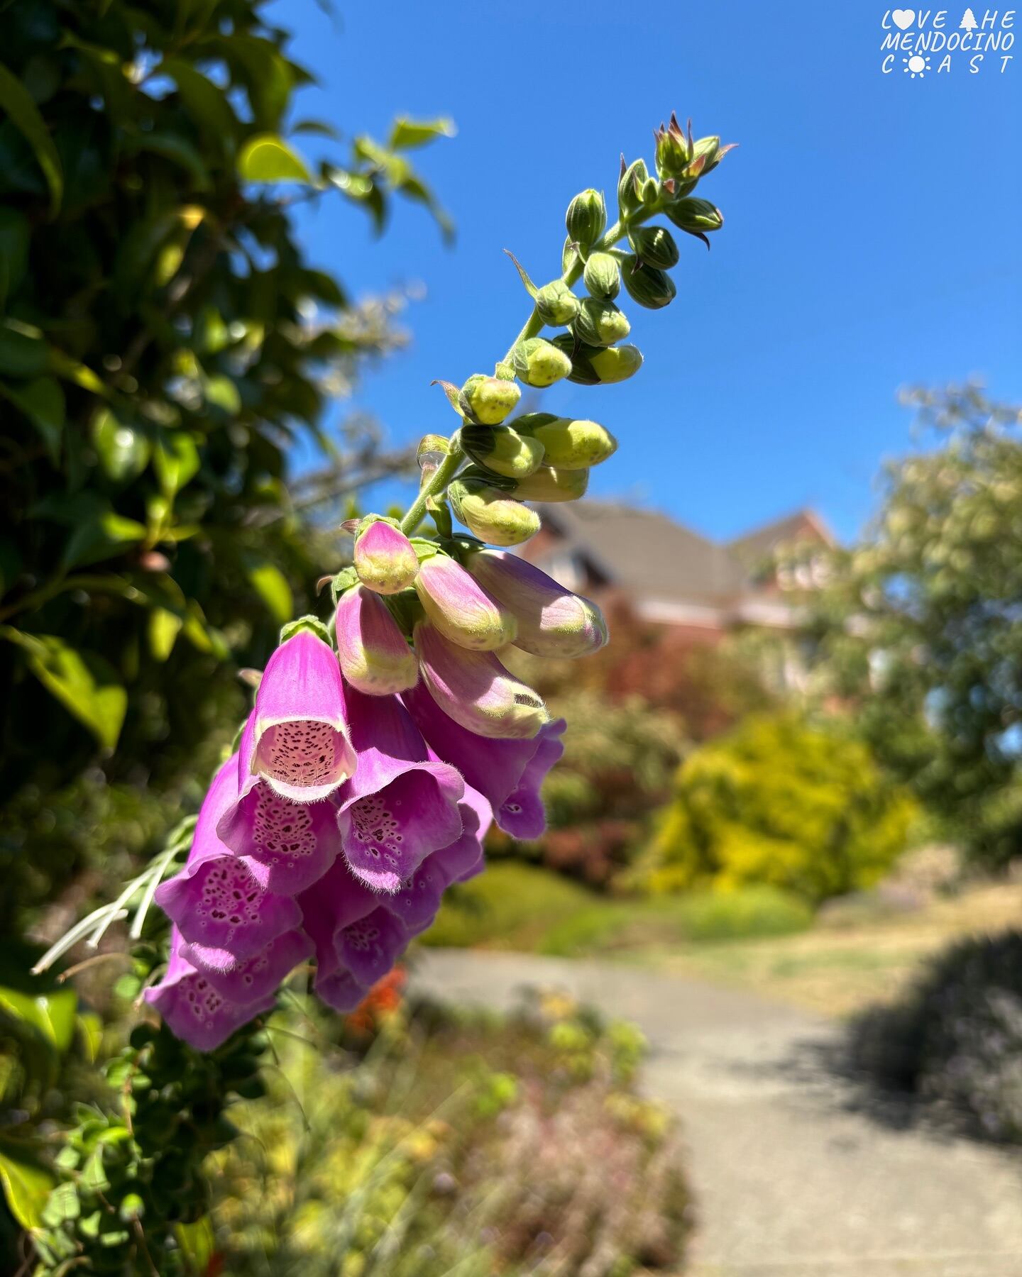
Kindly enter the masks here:
[[[217, 782], [225, 771], [226, 766]], [[221, 843], [216, 826], [225, 794], [230, 796], [229, 785], [215, 782], [199, 811], [188, 862], [156, 889], [156, 903], [184, 939], [201, 948], [204, 967], [227, 969], [296, 927], [301, 911], [289, 896], [264, 890], [247, 861]]]

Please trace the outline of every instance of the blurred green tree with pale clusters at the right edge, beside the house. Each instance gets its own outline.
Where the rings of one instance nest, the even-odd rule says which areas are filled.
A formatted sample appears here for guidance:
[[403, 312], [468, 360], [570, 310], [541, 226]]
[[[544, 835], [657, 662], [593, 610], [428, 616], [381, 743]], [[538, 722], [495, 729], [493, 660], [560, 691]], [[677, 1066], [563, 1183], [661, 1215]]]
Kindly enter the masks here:
[[810, 691], [1000, 865], [1022, 852], [1022, 412], [977, 386], [906, 404], [936, 447], [887, 467], [858, 545], [786, 577], [810, 613]]

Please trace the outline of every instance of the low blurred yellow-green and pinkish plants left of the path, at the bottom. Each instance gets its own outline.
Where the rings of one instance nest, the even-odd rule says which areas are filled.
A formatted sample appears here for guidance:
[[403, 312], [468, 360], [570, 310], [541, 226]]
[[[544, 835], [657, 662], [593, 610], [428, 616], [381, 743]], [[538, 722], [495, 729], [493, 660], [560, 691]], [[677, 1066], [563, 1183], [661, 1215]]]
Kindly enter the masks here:
[[319, 1020], [289, 1028], [271, 1023], [280, 1073], [233, 1112], [248, 1138], [216, 1158], [217, 1271], [677, 1271], [678, 1144], [635, 1093], [630, 1025], [534, 995], [508, 1019], [392, 1009], [368, 1043], [324, 1039]]

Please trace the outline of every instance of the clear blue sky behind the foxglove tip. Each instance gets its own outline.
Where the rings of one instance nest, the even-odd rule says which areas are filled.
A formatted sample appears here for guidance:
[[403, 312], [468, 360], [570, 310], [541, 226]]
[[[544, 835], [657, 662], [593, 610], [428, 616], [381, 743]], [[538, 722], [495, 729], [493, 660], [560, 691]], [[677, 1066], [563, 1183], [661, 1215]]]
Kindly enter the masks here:
[[650, 130], [676, 110], [696, 135], [741, 143], [699, 188], [726, 225], [710, 253], [678, 236], [669, 308], [626, 299], [637, 377], [562, 384], [543, 406], [618, 435], [593, 494], [641, 498], [722, 538], [811, 504], [853, 535], [883, 457], [910, 443], [899, 386], [977, 374], [1022, 401], [1022, 40], [1004, 73], [990, 54], [968, 74], [958, 52], [949, 74], [933, 57], [911, 79], [899, 54], [885, 75], [885, 9], [359, 0], [331, 18], [314, 0], [276, 0], [321, 80], [305, 114], [349, 135], [385, 137], [396, 114], [459, 129], [418, 153], [457, 222], [454, 249], [413, 206], [378, 241], [340, 200], [303, 215], [312, 258], [353, 291], [425, 285], [406, 315], [411, 347], [356, 406], [395, 442], [448, 432], [431, 379], [491, 370], [526, 313], [501, 249], [535, 280], [554, 276], [570, 197], [612, 194], [620, 152], [652, 160]]

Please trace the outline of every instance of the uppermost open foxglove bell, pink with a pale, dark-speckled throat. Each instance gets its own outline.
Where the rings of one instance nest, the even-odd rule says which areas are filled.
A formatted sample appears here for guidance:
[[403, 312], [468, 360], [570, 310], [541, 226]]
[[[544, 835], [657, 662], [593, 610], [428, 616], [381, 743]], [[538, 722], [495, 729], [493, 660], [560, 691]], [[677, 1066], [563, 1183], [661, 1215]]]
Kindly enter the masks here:
[[330, 644], [299, 630], [267, 661], [241, 733], [240, 790], [263, 779], [284, 798], [328, 798], [355, 770]]

